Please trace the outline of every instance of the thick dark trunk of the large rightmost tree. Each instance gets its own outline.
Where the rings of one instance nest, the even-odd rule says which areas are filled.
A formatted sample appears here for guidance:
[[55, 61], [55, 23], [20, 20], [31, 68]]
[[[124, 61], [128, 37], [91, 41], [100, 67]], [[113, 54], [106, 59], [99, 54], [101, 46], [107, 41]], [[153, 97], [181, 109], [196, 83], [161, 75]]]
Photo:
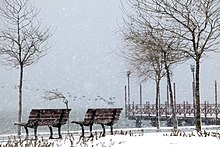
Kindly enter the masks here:
[[200, 116], [200, 89], [199, 89], [199, 70], [200, 70], [200, 59], [196, 59], [196, 130], [201, 131], [201, 116]]

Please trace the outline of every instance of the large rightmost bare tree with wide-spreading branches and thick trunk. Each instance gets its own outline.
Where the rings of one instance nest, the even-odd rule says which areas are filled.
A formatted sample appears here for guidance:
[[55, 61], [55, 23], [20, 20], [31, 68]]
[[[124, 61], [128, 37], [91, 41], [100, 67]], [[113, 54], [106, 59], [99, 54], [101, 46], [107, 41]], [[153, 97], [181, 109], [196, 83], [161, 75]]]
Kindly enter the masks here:
[[[162, 38], [179, 40], [179, 50], [190, 56], [196, 65], [196, 130], [201, 131], [200, 61], [210, 51], [217, 51], [220, 36], [218, 0], [129, 0], [138, 14], [138, 21], [163, 30]], [[143, 23], [144, 22], [144, 23]]]

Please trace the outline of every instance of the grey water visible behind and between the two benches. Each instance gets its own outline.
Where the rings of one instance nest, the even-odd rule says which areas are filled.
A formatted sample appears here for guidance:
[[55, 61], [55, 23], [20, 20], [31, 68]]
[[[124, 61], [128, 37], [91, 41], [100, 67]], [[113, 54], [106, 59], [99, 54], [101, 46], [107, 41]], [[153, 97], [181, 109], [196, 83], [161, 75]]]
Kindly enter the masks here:
[[[29, 116], [29, 110], [25, 111], [23, 113], [22, 122], [27, 122], [28, 116]], [[16, 111], [10, 111], [9, 110], [0, 110], [0, 135], [3, 134], [16, 134], [17, 133], [17, 126], [14, 125], [15, 122], [18, 122], [18, 112]], [[70, 113], [70, 122], [73, 120], [79, 121], [83, 120], [85, 115], [84, 111], [79, 112], [72, 112]], [[149, 127], [149, 124], [147, 121], [143, 122], [143, 126]], [[118, 128], [135, 128], [135, 121], [134, 120], [128, 120], [124, 117], [124, 113], [122, 112], [120, 116], [120, 120], [118, 123], [114, 125], [115, 129]], [[61, 127], [62, 131], [67, 131], [67, 125], [64, 125]], [[88, 129], [88, 128], [85, 128]], [[101, 129], [100, 125], [94, 125], [93, 129]], [[48, 127], [39, 127], [38, 131], [48, 132]], [[56, 131], [56, 130], [55, 130]], [[54, 132], [55, 132], [54, 131]], [[77, 124], [70, 124], [70, 131], [81, 131], [81, 128]], [[22, 128], [22, 132], [24, 131], [24, 128]], [[30, 131], [32, 132], [32, 130]]]

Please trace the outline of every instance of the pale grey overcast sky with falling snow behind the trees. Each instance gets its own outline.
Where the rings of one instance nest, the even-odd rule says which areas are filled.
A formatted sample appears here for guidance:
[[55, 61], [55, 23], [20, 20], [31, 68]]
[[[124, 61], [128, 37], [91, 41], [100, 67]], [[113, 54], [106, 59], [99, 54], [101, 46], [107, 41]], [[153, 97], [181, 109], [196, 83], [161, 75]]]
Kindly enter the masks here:
[[[41, 9], [42, 25], [51, 27], [48, 54], [38, 63], [25, 68], [24, 104], [26, 108], [42, 107], [44, 90], [57, 88], [71, 95], [72, 106], [81, 107], [97, 101], [73, 102], [73, 97], [95, 99], [116, 97], [116, 105], [123, 106], [126, 65], [114, 52], [123, 46], [117, 31], [122, 23], [120, 0], [34, 0]], [[214, 80], [220, 79], [220, 55], [209, 56], [201, 66], [201, 97], [214, 100]], [[192, 73], [190, 64], [175, 68], [173, 81], [177, 85], [177, 101], [191, 100]], [[0, 66], [1, 106], [17, 107], [18, 70]], [[161, 85], [161, 98], [166, 85]], [[132, 101], [137, 101], [137, 81], [131, 79]], [[144, 84], [144, 101], [154, 102], [153, 81]], [[40, 105], [39, 105], [40, 103]], [[29, 107], [28, 107], [29, 106]]]

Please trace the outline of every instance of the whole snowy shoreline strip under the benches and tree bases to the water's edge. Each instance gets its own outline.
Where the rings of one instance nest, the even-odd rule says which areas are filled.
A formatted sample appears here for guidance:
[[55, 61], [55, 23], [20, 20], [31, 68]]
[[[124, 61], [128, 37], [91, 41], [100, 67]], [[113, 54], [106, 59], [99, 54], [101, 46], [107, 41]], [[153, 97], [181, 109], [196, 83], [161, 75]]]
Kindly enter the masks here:
[[[0, 135], [0, 145], [11, 143], [18, 146], [36, 145], [50, 145], [50, 147], [146, 147], [148, 145], [163, 146], [163, 147], [181, 147], [181, 146], [200, 146], [205, 147], [211, 145], [217, 147], [220, 145], [220, 128], [219, 126], [203, 126], [203, 130], [208, 132], [208, 135], [199, 135], [192, 127], [179, 127], [181, 135], [172, 136], [172, 127], [162, 127], [160, 131], [156, 128], [127, 128], [127, 129], [115, 129], [115, 135], [109, 135], [108, 130], [105, 137], [100, 137], [101, 130], [94, 130], [94, 138], [79, 139], [81, 131], [74, 131], [67, 134], [63, 132], [63, 139], [47, 139], [47, 132], [40, 132], [38, 140], [20, 140], [13, 137], [16, 134]], [[132, 132], [132, 134], [129, 134]], [[183, 135], [183, 132], [186, 134]], [[218, 136], [213, 136], [211, 133], [216, 133]], [[24, 134], [25, 135], [25, 134]], [[55, 134], [56, 135], [56, 134]], [[6, 140], [2, 140], [5, 138]]]

